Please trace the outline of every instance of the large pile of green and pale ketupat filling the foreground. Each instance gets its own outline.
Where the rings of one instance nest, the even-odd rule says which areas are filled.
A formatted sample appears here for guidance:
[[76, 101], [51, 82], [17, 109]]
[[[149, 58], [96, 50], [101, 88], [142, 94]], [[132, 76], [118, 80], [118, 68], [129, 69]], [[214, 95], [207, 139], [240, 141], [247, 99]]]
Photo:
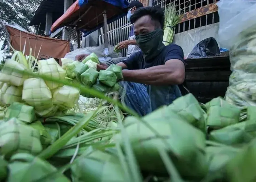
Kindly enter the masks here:
[[[43, 79], [42, 75], [50, 75], [48, 70], [56, 68], [52, 76], [62, 79], [64, 69], [53, 59], [42, 60], [38, 62], [39, 77], [24, 76], [15, 70], [34, 68], [25, 67], [20, 58], [7, 60], [0, 77], [1, 81], [5, 80], [2, 89], [7, 87], [1, 89], [4, 106], [0, 121], [0, 181], [241, 182], [255, 179], [252, 169], [256, 159], [256, 107], [240, 109], [221, 97], [201, 106], [192, 94], [187, 94], [144, 117], [124, 119], [117, 106], [106, 113], [108, 106], [98, 104], [94, 111], [74, 113], [71, 105], [78, 97], [71, 97], [71, 102], [65, 94], [72, 95], [78, 90], [79, 95], [79, 89]], [[9, 77], [8, 68], [12, 68]], [[65, 91], [59, 91], [63, 87]], [[29, 89], [36, 91], [28, 93]], [[42, 96], [37, 97], [38, 93]], [[61, 96], [65, 99], [60, 99]], [[54, 115], [42, 116], [42, 113], [49, 114], [45, 105], [58, 109]], [[110, 124], [100, 125], [110, 115]]]

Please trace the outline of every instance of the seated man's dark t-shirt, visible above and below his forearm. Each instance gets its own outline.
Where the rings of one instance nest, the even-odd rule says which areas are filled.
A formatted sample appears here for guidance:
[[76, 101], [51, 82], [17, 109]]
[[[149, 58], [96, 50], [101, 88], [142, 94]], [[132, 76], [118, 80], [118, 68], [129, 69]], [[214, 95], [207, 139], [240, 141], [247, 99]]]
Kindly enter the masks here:
[[[184, 62], [183, 50], [179, 45], [169, 44], [155, 58], [145, 61], [142, 51], [133, 54], [122, 62], [129, 70], [146, 69], [153, 66], [164, 65], [170, 59], [179, 59]], [[181, 96], [181, 91], [177, 85], [169, 86], [147, 86], [147, 92], [150, 96], [151, 110], [159, 108], [162, 105], [171, 104], [177, 97]]]

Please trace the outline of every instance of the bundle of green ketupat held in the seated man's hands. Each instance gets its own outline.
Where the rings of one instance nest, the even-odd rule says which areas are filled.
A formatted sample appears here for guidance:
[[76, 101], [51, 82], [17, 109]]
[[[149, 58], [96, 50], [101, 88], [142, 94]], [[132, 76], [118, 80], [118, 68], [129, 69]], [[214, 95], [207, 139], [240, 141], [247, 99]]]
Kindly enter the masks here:
[[[91, 53], [81, 62], [67, 58], [63, 58], [61, 61], [67, 77], [76, 80], [80, 84], [103, 93], [115, 92], [120, 88], [117, 81], [123, 78], [122, 67], [112, 64], [108, 69], [98, 72], [97, 63], [99, 63], [99, 59], [95, 53]], [[91, 97], [89, 94], [83, 96]]]

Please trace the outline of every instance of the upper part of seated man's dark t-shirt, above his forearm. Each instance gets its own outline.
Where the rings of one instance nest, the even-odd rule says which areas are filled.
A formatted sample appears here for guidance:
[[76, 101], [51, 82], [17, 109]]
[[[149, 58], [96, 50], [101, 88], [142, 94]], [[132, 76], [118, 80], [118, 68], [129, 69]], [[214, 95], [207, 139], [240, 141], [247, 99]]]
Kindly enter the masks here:
[[163, 48], [161, 53], [152, 60], [145, 61], [142, 51], [138, 51], [131, 57], [122, 60], [129, 70], [146, 69], [153, 66], [164, 65], [170, 59], [179, 59], [184, 62], [183, 50], [179, 45], [169, 44]]

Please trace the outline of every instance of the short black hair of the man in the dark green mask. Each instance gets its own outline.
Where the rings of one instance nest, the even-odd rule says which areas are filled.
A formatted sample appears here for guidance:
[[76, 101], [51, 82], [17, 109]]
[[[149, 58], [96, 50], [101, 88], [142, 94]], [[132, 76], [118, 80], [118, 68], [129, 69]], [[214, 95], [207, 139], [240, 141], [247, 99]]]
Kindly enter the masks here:
[[130, 21], [133, 24], [140, 17], [145, 15], [149, 15], [153, 21], [157, 22], [155, 25], [159, 26], [160, 24], [160, 28], [163, 29], [165, 24], [165, 13], [163, 12], [163, 8], [160, 5], [137, 8], [132, 14]]

